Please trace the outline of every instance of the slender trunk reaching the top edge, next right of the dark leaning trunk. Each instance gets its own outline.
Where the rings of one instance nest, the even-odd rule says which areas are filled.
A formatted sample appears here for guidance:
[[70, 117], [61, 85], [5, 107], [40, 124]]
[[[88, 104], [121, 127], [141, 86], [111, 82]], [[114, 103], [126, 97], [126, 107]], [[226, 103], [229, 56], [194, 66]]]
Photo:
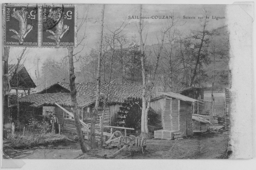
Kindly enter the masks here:
[[101, 50], [102, 50], [102, 40], [103, 40], [103, 23], [104, 23], [104, 9], [105, 4], [102, 6], [102, 16], [101, 16], [101, 35], [100, 35], [100, 45], [99, 45], [99, 54], [98, 54], [98, 68], [97, 68], [97, 93], [96, 93], [96, 102], [95, 107], [92, 113], [92, 121], [91, 121], [91, 144], [92, 147], [95, 148], [97, 146], [95, 139], [95, 122], [96, 117], [98, 115], [98, 107], [100, 102], [100, 64], [101, 64]]

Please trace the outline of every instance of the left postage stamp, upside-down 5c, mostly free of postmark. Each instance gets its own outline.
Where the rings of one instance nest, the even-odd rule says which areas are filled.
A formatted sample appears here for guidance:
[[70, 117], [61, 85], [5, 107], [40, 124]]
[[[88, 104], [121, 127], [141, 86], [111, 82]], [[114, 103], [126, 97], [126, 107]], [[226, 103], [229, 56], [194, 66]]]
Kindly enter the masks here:
[[5, 6], [5, 46], [38, 46], [38, 6]]

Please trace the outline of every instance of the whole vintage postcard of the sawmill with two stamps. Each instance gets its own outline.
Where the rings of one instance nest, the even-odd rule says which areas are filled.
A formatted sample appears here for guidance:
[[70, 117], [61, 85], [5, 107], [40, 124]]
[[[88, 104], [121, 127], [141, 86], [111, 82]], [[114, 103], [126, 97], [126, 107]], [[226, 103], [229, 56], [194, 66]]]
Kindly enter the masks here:
[[2, 167], [252, 158], [253, 21], [253, 3], [3, 3]]

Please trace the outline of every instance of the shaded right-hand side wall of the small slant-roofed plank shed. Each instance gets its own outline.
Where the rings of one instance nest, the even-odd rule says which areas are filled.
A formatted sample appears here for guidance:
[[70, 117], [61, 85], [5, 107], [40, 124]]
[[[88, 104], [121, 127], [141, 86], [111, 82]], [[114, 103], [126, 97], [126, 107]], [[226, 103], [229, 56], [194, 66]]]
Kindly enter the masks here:
[[180, 132], [185, 135], [193, 135], [191, 102], [180, 100]]

